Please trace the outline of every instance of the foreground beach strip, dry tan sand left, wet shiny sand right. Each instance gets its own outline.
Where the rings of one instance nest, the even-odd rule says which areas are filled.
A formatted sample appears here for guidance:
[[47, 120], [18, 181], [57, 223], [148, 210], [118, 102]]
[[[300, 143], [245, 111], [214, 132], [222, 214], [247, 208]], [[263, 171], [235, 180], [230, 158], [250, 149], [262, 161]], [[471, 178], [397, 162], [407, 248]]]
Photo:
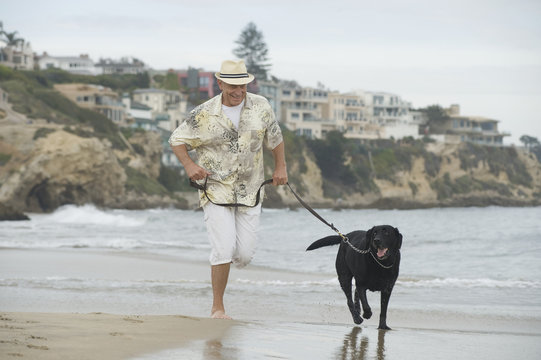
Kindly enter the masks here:
[[0, 358], [323, 360], [377, 355], [387, 360], [492, 360], [534, 359], [541, 351], [540, 332], [508, 331], [504, 323], [486, 331], [458, 330], [452, 321], [432, 321], [440, 326], [409, 323], [381, 331], [375, 326], [340, 323], [182, 315], [0, 312]]

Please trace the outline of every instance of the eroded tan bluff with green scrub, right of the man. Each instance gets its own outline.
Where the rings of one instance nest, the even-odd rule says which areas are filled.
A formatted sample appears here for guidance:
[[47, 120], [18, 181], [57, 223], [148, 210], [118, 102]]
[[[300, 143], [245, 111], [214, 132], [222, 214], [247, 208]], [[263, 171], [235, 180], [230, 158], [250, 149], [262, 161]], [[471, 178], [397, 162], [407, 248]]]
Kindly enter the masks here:
[[[292, 141], [286, 136], [286, 148], [302, 155], [288, 153], [290, 183], [317, 206], [541, 205], [541, 163], [523, 149], [413, 139], [360, 143], [339, 133]], [[279, 195], [270, 196], [274, 206], [298, 206], [286, 189], [272, 192]]]

